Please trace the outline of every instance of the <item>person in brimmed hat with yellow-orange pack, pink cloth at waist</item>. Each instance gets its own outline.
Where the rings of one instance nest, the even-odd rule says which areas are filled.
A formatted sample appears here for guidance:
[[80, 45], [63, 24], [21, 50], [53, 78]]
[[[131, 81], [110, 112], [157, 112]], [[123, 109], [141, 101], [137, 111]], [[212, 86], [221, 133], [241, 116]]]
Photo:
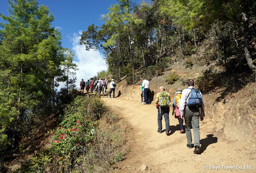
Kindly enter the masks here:
[[174, 97], [174, 101], [173, 101], [173, 104], [172, 104], [172, 115], [175, 115], [174, 117], [178, 118], [179, 125], [180, 125], [180, 133], [183, 134], [184, 133], [183, 119], [181, 119], [181, 117], [180, 117], [180, 109], [179, 109], [181, 93], [182, 93], [182, 90], [177, 89], [177, 91], [175, 93], [175, 94], [177, 94], [177, 96]]

